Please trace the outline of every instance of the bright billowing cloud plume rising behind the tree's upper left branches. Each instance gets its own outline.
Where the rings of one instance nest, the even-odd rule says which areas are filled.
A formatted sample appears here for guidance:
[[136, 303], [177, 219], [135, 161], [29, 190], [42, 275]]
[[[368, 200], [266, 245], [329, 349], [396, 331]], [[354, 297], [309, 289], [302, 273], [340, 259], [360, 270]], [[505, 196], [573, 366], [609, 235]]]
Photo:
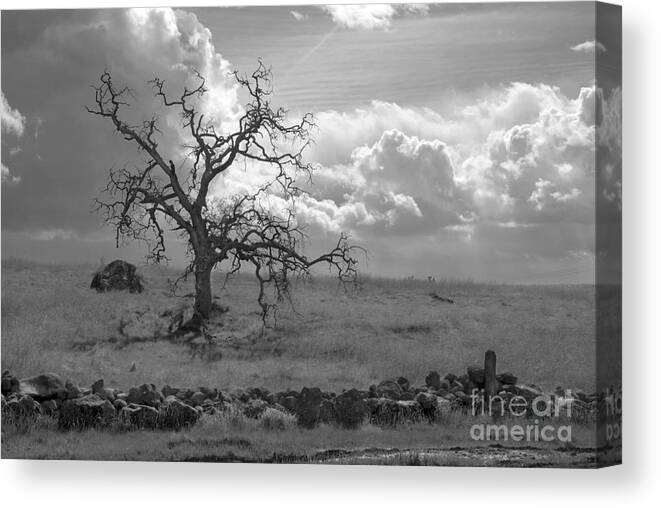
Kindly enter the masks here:
[[[73, 72], [86, 71], [80, 62], [94, 69], [105, 67], [116, 83], [135, 90], [132, 110], [136, 118], [151, 113], [158, 102], [149, 100], [148, 80], [165, 80], [166, 92], [176, 96], [184, 86], [197, 84], [194, 70], [206, 79], [207, 93], [198, 105], [201, 110], [221, 127], [240, 114], [238, 90], [229, 76], [231, 64], [218, 53], [211, 31], [194, 13], [170, 8], [105, 10], [84, 24], [49, 27], [45, 43], [60, 59], [63, 55], [71, 59], [65, 63]], [[89, 78], [84, 79], [88, 82]], [[180, 120], [172, 114], [165, 115], [164, 121], [178, 124]]]

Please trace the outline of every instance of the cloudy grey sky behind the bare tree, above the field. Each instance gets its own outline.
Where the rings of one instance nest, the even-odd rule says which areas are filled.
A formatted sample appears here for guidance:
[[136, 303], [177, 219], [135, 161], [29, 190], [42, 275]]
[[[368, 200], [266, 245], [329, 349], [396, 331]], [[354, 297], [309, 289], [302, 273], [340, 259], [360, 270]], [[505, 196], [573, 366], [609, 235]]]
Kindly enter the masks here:
[[[308, 253], [348, 232], [372, 274], [591, 283], [595, 203], [621, 207], [621, 41], [597, 40], [591, 2], [3, 11], [1, 43], [3, 258], [143, 259], [91, 210], [109, 168], [140, 161], [85, 111], [104, 69], [138, 116], [149, 79], [176, 90], [197, 69], [231, 125], [229, 73], [263, 59], [273, 102], [316, 119]], [[613, 70], [599, 86], [596, 61]], [[213, 192], [264, 177], [233, 168]]]

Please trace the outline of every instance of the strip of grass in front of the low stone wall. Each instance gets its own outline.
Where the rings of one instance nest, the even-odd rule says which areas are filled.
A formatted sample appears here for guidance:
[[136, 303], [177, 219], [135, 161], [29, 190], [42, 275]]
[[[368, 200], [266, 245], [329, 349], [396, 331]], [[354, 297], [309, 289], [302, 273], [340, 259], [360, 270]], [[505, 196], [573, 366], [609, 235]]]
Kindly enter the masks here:
[[[245, 418], [228, 411], [204, 416], [181, 432], [60, 432], [56, 422], [41, 420], [28, 432], [3, 426], [3, 458], [145, 461], [241, 461], [380, 465], [525, 465], [530, 455], [546, 465], [576, 462], [572, 450], [590, 455], [594, 429], [575, 425], [570, 453], [558, 442], [481, 444], [470, 440], [472, 423], [486, 421], [452, 414], [442, 425], [424, 423], [398, 428], [365, 424], [356, 430], [328, 425], [301, 429], [293, 422], [274, 428], [268, 417]], [[579, 458], [580, 459], [580, 458]], [[584, 459], [584, 458], [583, 458]], [[580, 460], [583, 460], [580, 459]], [[528, 462], [526, 462], [528, 461]], [[539, 464], [539, 465], [545, 465]]]

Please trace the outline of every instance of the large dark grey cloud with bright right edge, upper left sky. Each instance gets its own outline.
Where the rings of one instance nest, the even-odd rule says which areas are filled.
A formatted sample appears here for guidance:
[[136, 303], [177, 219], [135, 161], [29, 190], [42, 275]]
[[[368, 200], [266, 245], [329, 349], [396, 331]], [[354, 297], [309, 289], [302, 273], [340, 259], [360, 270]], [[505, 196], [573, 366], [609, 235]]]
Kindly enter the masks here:
[[[166, 91], [181, 94], [183, 86], [192, 84], [191, 70], [196, 69], [207, 78], [208, 93], [199, 103], [206, 118], [217, 119], [225, 129], [234, 127], [241, 113], [235, 80], [229, 75], [232, 65], [216, 49], [210, 30], [183, 10], [73, 11], [66, 22], [50, 23], [31, 44], [3, 54], [5, 68], [14, 72], [11, 78], [3, 74], [3, 85], [6, 79], [12, 84], [10, 97], [17, 97], [16, 104], [29, 104], [34, 114], [25, 128], [30, 137], [34, 128], [38, 137], [38, 145], [32, 139], [30, 145], [26, 142], [20, 158], [6, 160], [3, 114], [2, 162], [22, 176], [21, 184], [3, 195], [5, 229], [72, 229], [81, 235], [95, 231], [101, 218], [89, 213], [89, 200], [105, 185], [108, 168], [144, 163], [135, 146], [114, 135], [112, 125], [83, 108], [93, 102], [90, 85], [98, 83], [104, 69], [116, 84], [134, 90], [132, 106], [125, 111], [129, 122], [139, 124], [158, 111], [160, 146], [178, 165], [184, 159], [181, 119], [174, 110], [158, 109], [148, 80], [158, 76], [165, 80]], [[175, 125], [176, 130], [170, 128]], [[38, 160], [37, 146], [48, 157]]]

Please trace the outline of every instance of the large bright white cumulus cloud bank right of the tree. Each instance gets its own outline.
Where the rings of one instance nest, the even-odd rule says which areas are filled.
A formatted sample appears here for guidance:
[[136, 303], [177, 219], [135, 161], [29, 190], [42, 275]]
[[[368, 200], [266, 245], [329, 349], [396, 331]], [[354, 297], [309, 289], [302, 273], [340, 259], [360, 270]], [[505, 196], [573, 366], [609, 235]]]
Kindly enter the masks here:
[[617, 94], [601, 94], [512, 83], [445, 117], [378, 101], [321, 113], [309, 153], [321, 168], [300, 218], [332, 232], [464, 238], [480, 223], [589, 224], [595, 139], [611, 146], [618, 132]]

